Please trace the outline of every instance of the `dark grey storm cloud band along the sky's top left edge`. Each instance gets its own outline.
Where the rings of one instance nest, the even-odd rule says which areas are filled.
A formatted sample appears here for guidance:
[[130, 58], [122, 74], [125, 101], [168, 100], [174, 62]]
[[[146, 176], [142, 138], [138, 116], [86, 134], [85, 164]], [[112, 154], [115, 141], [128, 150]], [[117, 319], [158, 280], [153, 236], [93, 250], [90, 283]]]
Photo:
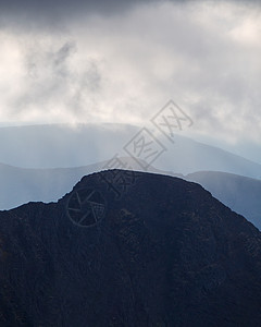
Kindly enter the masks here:
[[14, 0], [0, 2], [0, 29], [64, 29], [70, 21], [91, 14], [117, 15], [135, 5], [163, 0]]

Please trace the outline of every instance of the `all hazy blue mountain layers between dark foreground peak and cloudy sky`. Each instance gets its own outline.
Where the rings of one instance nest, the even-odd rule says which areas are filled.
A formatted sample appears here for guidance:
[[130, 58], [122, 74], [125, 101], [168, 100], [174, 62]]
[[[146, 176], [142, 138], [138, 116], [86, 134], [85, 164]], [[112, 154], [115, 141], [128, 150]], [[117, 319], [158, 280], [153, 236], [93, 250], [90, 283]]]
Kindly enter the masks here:
[[156, 134], [165, 152], [145, 168], [135, 152], [133, 157], [124, 152], [124, 145], [138, 132], [137, 126], [122, 124], [0, 129], [0, 158], [4, 162], [0, 164], [0, 209], [28, 202], [57, 202], [83, 175], [124, 168], [115, 160], [110, 162], [119, 154], [125, 156], [121, 157], [124, 169], [181, 175], [200, 183], [261, 229], [261, 165], [182, 135], [175, 135], [171, 144]]

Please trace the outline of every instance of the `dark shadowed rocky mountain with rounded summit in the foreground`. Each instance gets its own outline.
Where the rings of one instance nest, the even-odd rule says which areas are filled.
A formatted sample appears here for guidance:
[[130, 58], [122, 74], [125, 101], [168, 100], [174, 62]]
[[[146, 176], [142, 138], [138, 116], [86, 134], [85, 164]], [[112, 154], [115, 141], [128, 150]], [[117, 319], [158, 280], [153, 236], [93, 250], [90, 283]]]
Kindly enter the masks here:
[[1, 211], [0, 261], [0, 326], [261, 320], [261, 233], [177, 178], [105, 171]]

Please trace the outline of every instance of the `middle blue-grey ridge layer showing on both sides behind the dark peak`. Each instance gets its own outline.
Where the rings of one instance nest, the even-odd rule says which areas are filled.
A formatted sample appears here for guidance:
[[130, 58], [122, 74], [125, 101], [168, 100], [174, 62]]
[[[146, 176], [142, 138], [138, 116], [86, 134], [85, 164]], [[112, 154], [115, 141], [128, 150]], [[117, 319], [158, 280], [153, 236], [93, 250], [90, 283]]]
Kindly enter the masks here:
[[[120, 158], [134, 170], [142, 170], [142, 162], [133, 158]], [[0, 209], [11, 209], [28, 202], [57, 202], [82, 177], [97, 172], [108, 161], [76, 168], [23, 169], [0, 164]], [[187, 175], [161, 171], [153, 166], [149, 172], [178, 175], [202, 185], [219, 201], [246, 217], [261, 230], [261, 181], [219, 171], [199, 171]]]

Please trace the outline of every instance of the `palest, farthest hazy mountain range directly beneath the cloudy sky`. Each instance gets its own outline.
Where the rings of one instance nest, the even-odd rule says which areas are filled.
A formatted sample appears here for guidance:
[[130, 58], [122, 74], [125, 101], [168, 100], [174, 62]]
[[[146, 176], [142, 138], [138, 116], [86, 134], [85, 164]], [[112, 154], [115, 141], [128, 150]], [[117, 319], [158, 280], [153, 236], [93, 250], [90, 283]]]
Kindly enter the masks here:
[[[129, 156], [123, 147], [140, 131], [124, 124], [34, 125], [0, 129], [0, 162], [22, 168], [73, 168]], [[153, 133], [152, 133], [153, 134]], [[221, 148], [175, 135], [153, 134], [165, 152], [151, 162], [162, 171], [223, 171], [261, 179], [261, 165]], [[151, 146], [153, 148], [153, 145]], [[138, 152], [133, 156], [138, 156]], [[144, 159], [141, 156], [139, 159]]]

